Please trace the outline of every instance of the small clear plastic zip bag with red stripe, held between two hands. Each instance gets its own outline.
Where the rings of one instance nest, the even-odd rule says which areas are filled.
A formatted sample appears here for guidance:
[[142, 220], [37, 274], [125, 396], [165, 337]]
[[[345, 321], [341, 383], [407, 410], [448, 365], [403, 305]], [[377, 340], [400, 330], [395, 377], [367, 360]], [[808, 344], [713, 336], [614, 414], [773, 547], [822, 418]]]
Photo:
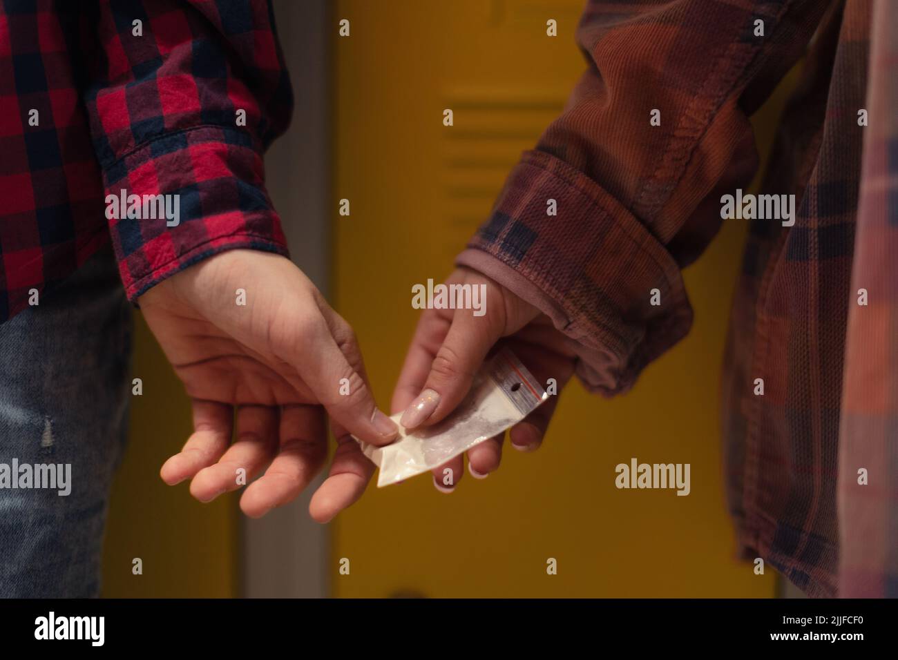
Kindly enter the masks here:
[[471, 392], [449, 417], [433, 427], [406, 433], [392, 416], [400, 435], [376, 447], [359, 441], [362, 452], [380, 468], [378, 488], [431, 471], [490, 437], [513, 427], [549, 395], [514, 353], [502, 348], [474, 376]]

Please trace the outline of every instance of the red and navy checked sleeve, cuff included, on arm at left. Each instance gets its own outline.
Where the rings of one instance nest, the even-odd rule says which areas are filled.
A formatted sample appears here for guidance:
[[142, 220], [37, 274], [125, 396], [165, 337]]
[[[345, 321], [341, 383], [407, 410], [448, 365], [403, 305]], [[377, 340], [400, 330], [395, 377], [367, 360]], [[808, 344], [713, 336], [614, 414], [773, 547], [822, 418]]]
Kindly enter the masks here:
[[97, 32], [85, 104], [107, 201], [177, 196], [180, 216], [107, 207], [128, 297], [220, 251], [286, 255], [262, 161], [292, 110], [269, 3], [102, 0]]

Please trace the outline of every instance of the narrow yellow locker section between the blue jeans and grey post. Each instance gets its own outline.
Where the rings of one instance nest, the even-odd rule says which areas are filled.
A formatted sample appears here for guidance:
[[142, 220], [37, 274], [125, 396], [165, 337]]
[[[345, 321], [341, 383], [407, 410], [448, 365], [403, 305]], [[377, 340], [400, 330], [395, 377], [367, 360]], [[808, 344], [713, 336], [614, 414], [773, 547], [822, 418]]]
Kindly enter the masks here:
[[[189, 482], [172, 488], [159, 469], [193, 430], [184, 386], [134, 312], [128, 450], [112, 484], [103, 548], [102, 595], [109, 598], [225, 598], [238, 595], [238, 527], [233, 493], [200, 504]], [[140, 559], [142, 574], [135, 573]]]

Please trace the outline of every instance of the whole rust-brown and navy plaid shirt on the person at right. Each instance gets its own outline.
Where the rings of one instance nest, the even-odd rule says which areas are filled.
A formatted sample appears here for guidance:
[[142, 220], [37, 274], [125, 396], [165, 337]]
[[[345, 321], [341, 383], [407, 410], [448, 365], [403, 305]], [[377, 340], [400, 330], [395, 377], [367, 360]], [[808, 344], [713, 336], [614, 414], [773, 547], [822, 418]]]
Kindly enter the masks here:
[[589, 2], [588, 70], [458, 258], [548, 313], [587, 387], [626, 391], [688, 332], [681, 269], [753, 178], [748, 117], [813, 42], [762, 186], [796, 195], [795, 224], [751, 222], [722, 396], [741, 552], [812, 595], [898, 595], [896, 33], [894, 0]]

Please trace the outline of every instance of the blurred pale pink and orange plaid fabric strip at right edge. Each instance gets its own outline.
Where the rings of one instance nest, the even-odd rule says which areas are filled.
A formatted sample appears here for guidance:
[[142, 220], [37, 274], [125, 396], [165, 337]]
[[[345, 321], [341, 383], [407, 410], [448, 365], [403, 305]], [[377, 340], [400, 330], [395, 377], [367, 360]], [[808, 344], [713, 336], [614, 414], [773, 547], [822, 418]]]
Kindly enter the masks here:
[[[839, 594], [898, 597], [898, 7], [873, 4], [839, 436]], [[854, 304], [860, 289], [867, 304]], [[889, 339], [891, 338], [891, 339]], [[866, 471], [866, 475], [861, 471]], [[866, 477], [866, 478], [865, 478]]]

